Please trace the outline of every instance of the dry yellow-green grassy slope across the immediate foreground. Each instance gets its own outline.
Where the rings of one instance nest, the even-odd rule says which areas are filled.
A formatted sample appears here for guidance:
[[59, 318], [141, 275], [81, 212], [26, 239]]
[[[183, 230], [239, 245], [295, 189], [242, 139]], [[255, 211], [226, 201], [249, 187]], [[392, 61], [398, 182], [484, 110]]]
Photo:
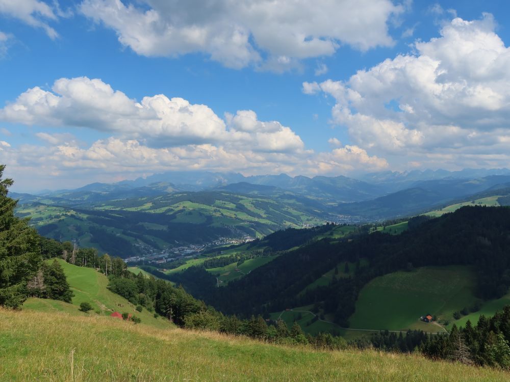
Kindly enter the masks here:
[[[63, 335], [65, 333], [65, 335]], [[375, 351], [317, 351], [107, 317], [0, 309], [0, 380], [494, 381], [486, 368]]]

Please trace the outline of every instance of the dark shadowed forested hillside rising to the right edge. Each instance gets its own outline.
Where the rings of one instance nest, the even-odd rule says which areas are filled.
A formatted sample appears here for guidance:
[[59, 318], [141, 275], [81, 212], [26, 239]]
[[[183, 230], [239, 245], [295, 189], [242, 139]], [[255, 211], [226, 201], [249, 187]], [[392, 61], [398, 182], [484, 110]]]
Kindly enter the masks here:
[[[197, 297], [223, 312], [245, 315], [323, 302], [325, 312], [334, 313], [336, 322], [347, 325], [360, 289], [373, 278], [399, 269], [473, 265], [480, 297], [506, 293], [510, 286], [510, 208], [463, 207], [419, 223], [410, 224], [401, 235], [374, 232], [335, 242], [314, 241], [282, 253], [225, 287], [202, 288]], [[352, 277], [334, 278], [327, 286], [301, 292], [345, 262], [356, 264]], [[193, 271], [194, 278], [197, 273]], [[204, 277], [211, 280], [209, 275]]]

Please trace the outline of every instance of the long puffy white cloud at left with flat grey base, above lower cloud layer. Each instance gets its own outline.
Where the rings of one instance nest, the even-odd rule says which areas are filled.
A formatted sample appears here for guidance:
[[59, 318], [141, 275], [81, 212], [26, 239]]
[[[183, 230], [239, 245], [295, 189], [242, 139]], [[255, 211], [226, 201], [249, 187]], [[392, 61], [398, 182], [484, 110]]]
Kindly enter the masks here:
[[259, 121], [252, 111], [227, 114], [227, 126], [207, 105], [163, 94], [143, 97], [138, 102], [100, 79], [87, 77], [60, 78], [51, 91], [28, 89], [0, 109], [0, 120], [87, 127], [159, 147], [221, 142], [279, 152], [304, 146], [289, 127], [276, 121]]

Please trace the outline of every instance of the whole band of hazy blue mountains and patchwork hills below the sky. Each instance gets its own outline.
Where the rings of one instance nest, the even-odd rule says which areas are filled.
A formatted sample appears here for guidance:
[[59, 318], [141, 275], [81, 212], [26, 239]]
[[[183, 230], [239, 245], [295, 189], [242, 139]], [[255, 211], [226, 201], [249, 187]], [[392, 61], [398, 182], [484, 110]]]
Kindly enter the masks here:
[[509, 187], [507, 169], [384, 172], [362, 179], [172, 172], [10, 196], [19, 200], [18, 215], [32, 216], [43, 235], [136, 255], [141, 248], [147, 253], [219, 237], [260, 237], [325, 221], [380, 222], [474, 195], [506, 196]]

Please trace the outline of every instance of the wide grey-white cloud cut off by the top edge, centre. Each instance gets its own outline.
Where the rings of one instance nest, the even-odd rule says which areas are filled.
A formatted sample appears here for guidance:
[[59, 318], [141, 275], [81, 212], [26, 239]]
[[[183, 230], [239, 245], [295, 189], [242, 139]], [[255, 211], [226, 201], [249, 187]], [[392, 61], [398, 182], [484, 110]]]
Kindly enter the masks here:
[[84, 0], [80, 9], [143, 56], [200, 52], [231, 68], [267, 57], [260, 67], [276, 71], [330, 56], [341, 44], [390, 46], [387, 22], [404, 11], [390, 0]]

